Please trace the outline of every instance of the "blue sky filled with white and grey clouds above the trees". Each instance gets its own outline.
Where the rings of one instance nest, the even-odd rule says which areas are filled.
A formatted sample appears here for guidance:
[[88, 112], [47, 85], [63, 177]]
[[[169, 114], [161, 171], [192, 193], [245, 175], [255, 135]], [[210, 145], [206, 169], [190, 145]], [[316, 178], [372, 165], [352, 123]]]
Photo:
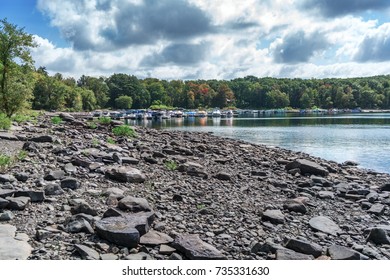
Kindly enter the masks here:
[[390, 74], [389, 0], [0, 0], [65, 77]]

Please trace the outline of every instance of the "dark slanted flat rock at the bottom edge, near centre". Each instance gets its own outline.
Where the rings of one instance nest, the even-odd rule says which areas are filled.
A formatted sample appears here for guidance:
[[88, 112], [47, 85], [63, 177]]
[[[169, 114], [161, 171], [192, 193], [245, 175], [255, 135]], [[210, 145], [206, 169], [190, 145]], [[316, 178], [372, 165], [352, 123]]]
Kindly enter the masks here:
[[225, 260], [215, 247], [203, 242], [196, 234], [182, 234], [175, 238], [172, 247], [186, 255], [191, 260]]

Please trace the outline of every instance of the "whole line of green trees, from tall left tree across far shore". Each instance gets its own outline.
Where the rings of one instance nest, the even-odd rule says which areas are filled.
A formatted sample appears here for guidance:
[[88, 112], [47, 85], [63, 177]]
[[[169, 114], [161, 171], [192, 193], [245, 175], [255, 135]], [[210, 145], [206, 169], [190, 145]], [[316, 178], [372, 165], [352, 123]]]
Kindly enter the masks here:
[[288, 79], [247, 76], [232, 80], [139, 79], [115, 73], [78, 80], [35, 69], [36, 47], [23, 28], [0, 20], [0, 111], [22, 108], [92, 111], [115, 108], [390, 108], [390, 75], [364, 78]]

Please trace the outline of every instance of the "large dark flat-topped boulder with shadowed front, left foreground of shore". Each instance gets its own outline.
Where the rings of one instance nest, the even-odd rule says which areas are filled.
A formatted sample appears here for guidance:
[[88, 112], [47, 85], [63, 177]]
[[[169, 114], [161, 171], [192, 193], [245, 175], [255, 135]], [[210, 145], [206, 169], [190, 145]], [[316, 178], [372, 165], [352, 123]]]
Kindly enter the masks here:
[[126, 216], [109, 217], [95, 223], [97, 234], [114, 244], [134, 248], [141, 235], [149, 231], [153, 212], [140, 212]]

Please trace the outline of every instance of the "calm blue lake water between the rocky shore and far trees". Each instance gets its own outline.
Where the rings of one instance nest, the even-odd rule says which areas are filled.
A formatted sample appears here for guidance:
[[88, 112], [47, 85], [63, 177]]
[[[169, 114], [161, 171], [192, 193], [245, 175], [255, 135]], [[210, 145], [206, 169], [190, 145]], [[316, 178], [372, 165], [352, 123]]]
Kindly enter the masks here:
[[185, 118], [134, 123], [215, 135], [302, 151], [390, 173], [390, 114], [274, 115], [261, 118]]

